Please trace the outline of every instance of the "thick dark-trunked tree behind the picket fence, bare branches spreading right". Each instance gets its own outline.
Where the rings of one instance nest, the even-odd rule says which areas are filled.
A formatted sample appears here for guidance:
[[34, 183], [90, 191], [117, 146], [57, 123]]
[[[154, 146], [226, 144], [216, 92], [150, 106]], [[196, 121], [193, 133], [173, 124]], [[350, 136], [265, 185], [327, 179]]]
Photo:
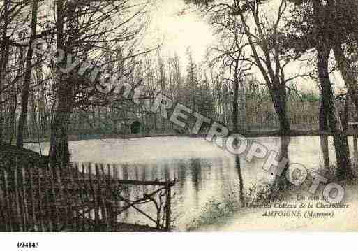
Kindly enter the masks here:
[[[122, 52], [126, 52], [120, 59], [122, 62], [133, 59], [138, 55], [135, 53], [135, 44], [143, 28], [141, 23], [134, 25], [134, 22], [144, 14], [146, 6], [147, 3], [131, 5], [129, 1], [123, 0], [56, 1], [56, 48], [64, 51], [65, 64], [66, 60], [87, 59], [95, 62], [96, 66], [105, 68], [106, 64], [112, 62], [103, 61], [103, 52], [117, 50], [119, 47], [123, 48]], [[54, 90], [57, 100], [49, 155], [52, 162], [61, 159], [66, 163], [69, 160], [68, 126], [73, 108], [76, 105], [84, 107], [86, 103], [104, 104], [110, 101], [107, 99], [108, 95], [96, 96], [89, 73], [84, 73], [83, 77], [77, 76], [74, 71], [64, 74], [59, 69], [61, 66], [64, 65], [55, 66], [57, 77]], [[75, 68], [78, 70], [81, 66], [83, 64]], [[100, 78], [101, 74], [98, 76]], [[80, 104], [75, 103], [78, 92], [82, 96]]]

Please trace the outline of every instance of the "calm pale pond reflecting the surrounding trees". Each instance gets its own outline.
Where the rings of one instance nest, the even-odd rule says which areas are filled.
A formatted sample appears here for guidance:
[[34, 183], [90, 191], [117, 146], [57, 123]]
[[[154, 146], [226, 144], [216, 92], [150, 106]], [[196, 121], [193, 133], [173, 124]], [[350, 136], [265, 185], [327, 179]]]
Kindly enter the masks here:
[[[279, 150], [280, 138], [252, 138], [269, 150]], [[352, 146], [352, 138], [349, 139]], [[38, 144], [27, 148], [39, 151]], [[41, 145], [43, 152], [48, 143]], [[351, 147], [352, 148], [352, 147]], [[299, 163], [310, 170], [323, 165], [319, 136], [291, 138], [288, 147], [290, 163]], [[153, 137], [133, 139], [103, 139], [70, 141], [71, 161], [103, 163], [117, 166], [120, 178], [130, 180], [176, 180], [173, 188], [172, 213], [174, 225], [185, 230], [195, 217], [204, 213], [209, 201], [220, 203], [228, 196], [237, 196], [240, 177], [235, 157], [204, 138]], [[335, 159], [333, 141], [329, 137], [330, 159]], [[263, 160], [241, 162], [244, 193], [253, 185], [273, 180], [271, 173], [262, 169]], [[131, 191], [138, 194], [137, 188]], [[119, 220], [148, 224], [144, 217], [128, 210]]]

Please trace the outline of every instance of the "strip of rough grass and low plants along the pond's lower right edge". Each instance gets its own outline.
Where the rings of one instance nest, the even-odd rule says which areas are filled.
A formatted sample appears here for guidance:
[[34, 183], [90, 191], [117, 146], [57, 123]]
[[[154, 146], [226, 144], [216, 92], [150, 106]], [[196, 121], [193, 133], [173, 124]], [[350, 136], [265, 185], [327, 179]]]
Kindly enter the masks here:
[[[353, 159], [352, 162], [355, 163], [354, 170], [355, 177], [357, 177], [357, 164]], [[329, 182], [340, 182], [345, 191], [351, 192], [358, 188], [358, 178], [346, 180], [345, 182], [338, 180], [336, 177], [336, 166], [334, 165], [328, 168], [322, 166], [317, 172], [327, 178]], [[290, 205], [294, 206], [294, 208], [298, 208], [300, 201], [297, 200], [297, 198], [302, 197], [303, 194], [308, 194], [305, 200], [309, 201], [309, 198], [315, 198], [312, 199], [312, 201], [327, 203], [321, 200], [322, 196], [317, 195], [320, 193], [310, 194], [307, 192], [312, 184], [313, 178], [311, 177], [302, 185], [292, 186], [290, 189], [285, 190], [285, 192], [278, 189], [274, 182], [252, 184], [246, 189], [246, 192], [244, 192], [244, 196], [242, 197], [244, 199], [240, 199], [239, 193], [237, 192], [239, 187], [237, 187], [237, 190], [228, 193], [225, 198], [220, 201], [215, 198], [209, 199], [201, 208], [200, 213], [197, 213], [191, 222], [186, 225], [186, 231], [202, 231], [214, 226], [214, 229], [220, 229], [225, 225], [230, 225], [228, 222], [232, 221], [234, 217], [238, 217], [238, 215], [239, 217], [245, 217], [248, 213], [255, 213], [261, 216], [264, 210], [273, 208], [275, 204], [288, 203], [287, 201], [290, 201]], [[358, 203], [358, 201], [346, 201], [346, 197], [347, 196], [341, 201], [344, 206], [352, 206]], [[317, 198], [319, 199], [316, 200]], [[286, 204], [285, 207], [289, 208], [290, 206]], [[279, 209], [280, 208], [278, 208], [278, 210]]]

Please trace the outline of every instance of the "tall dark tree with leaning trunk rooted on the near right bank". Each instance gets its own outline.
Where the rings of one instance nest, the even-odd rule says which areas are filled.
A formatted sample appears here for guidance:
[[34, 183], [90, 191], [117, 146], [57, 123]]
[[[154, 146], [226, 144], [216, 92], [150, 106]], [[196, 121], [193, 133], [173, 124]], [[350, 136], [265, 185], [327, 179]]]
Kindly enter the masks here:
[[[334, 103], [335, 97], [329, 78], [329, 56], [332, 50], [336, 50], [335, 55], [338, 60], [338, 66], [343, 73], [345, 84], [348, 85], [348, 92], [354, 101], [356, 87], [350, 80], [351, 77], [345, 74], [347, 73], [345, 71], [349, 71], [349, 68], [343, 69], [343, 67], [348, 67], [348, 64], [345, 64], [343, 55], [340, 55], [342, 40], [332, 39], [340, 36], [336, 35], [334, 29], [337, 25], [336, 1], [306, 0], [294, 2], [297, 4], [297, 8], [294, 10], [294, 17], [296, 18], [293, 18], [291, 27], [294, 31], [301, 33], [302, 36], [297, 36], [299, 33], [295, 32], [289, 41], [295, 50], [306, 51], [310, 48], [315, 48], [317, 52], [316, 68], [322, 92], [320, 120], [323, 121], [321, 124], [325, 123], [324, 120], [326, 120], [327, 115], [336, 150], [337, 177], [342, 180], [352, 178], [348, 139]], [[303, 22], [303, 20], [308, 20], [309, 22]]]

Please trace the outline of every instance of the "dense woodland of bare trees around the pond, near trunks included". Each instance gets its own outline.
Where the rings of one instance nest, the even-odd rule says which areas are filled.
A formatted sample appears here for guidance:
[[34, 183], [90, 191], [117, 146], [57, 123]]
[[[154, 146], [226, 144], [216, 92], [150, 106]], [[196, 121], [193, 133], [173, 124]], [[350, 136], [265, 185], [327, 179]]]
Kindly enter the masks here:
[[[47, 140], [50, 160], [68, 162], [69, 136], [126, 135], [135, 121], [142, 134], [188, 132], [123, 96], [98, 92], [103, 74], [91, 70], [101, 69], [118, 83], [145, 87], [143, 102], [159, 91], [232, 131], [330, 131], [338, 177], [350, 178], [346, 129], [358, 111], [357, 1], [186, 3], [217, 37], [205, 62], [195, 62], [191, 48], [181, 59], [163, 55], [160, 45], [143, 45], [151, 1], [2, 0], [0, 141], [22, 148], [26, 140]], [[55, 53], [34, 50], [39, 38]], [[334, 92], [335, 72], [347, 93]], [[318, 91], [301, 92], [301, 80]]]

